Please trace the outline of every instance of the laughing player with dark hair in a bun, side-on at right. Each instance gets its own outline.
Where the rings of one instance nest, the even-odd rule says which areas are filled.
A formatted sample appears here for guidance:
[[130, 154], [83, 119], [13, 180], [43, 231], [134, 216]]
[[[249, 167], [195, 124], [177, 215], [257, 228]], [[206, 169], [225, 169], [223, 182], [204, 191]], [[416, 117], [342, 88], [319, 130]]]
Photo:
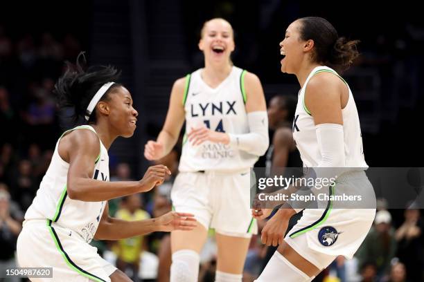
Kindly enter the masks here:
[[[364, 173], [368, 166], [355, 101], [348, 84], [328, 67], [346, 69], [358, 55], [356, 44], [339, 37], [326, 19], [298, 19], [280, 43], [284, 56], [281, 71], [296, 75], [301, 85], [292, 131], [303, 167], [342, 171], [338, 177], [334, 175], [335, 185], [328, 187], [330, 195], [354, 190], [369, 196], [370, 204], [336, 209], [328, 200], [326, 208], [306, 208], [283, 239], [289, 218], [302, 210], [293, 202], [285, 203], [263, 228], [263, 243], [280, 245], [256, 281], [312, 281], [338, 255], [351, 258], [373, 223], [375, 195]], [[330, 172], [327, 169], [324, 175]], [[256, 218], [266, 218], [270, 212], [252, 211]]]

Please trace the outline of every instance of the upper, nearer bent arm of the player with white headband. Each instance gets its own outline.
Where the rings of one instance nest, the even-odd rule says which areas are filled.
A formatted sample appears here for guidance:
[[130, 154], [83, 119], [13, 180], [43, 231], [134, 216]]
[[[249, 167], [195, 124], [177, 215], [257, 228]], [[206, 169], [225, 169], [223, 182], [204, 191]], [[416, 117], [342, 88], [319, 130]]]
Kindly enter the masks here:
[[100, 154], [100, 142], [96, 133], [85, 129], [72, 131], [64, 136], [58, 150], [61, 158], [69, 162], [67, 194], [74, 200], [96, 202], [149, 191], [161, 184], [166, 174], [170, 174], [168, 168], [160, 165], [150, 167], [139, 181], [108, 182], [93, 179], [94, 166]]

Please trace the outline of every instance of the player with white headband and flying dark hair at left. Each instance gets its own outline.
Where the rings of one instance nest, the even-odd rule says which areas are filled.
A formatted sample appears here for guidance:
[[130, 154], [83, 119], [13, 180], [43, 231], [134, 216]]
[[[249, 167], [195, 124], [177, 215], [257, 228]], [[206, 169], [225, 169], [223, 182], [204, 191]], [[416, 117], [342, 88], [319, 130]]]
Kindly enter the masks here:
[[60, 108], [72, 107], [74, 120], [85, 124], [59, 138], [25, 214], [17, 258], [21, 267], [53, 267], [55, 281], [130, 281], [89, 245], [93, 238], [118, 240], [154, 231], [191, 230], [195, 219], [175, 212], [134, 222], [109, 217], [107, 200], [149, 191], [161, 185], [170, 171], [157, 165], [139, 181], [109, 182], [107, 150], [118, 136], [133, 135], [138, 113], [130, 92], [115, 82], [120, 74], [116, 68], [96, 66], [84, 71], [78, 59], [76, 68], [68, 64], [55, 94]]

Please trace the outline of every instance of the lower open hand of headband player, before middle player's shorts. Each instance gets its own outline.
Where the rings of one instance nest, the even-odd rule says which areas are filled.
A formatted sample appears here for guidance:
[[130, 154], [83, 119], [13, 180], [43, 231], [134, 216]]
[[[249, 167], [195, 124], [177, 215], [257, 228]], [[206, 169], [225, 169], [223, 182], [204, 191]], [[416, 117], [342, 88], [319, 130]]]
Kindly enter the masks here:
[[168, 212], [157, 218], [158, 231], [193, 230], [197, 226], [197, 220], [193, 216], [182, 212]]

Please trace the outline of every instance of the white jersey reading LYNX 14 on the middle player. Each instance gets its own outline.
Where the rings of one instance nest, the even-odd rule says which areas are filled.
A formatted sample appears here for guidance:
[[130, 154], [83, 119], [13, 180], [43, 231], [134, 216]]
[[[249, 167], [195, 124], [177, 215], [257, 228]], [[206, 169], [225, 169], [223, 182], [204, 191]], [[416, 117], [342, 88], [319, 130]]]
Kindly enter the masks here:
[[[186, 134], [204, 124], [214, 131], [243, 134], [249, 132], [245, 109], [245, 71], [233, 66], [229, 76], [217, 88], [202, 79], [202, 69], [187, 75], [184, 92]], [[253, 167], [258, 160], [229, 144], [206, 141], [193, 146], [184, 134], [179, 171], [239, 171]]]

